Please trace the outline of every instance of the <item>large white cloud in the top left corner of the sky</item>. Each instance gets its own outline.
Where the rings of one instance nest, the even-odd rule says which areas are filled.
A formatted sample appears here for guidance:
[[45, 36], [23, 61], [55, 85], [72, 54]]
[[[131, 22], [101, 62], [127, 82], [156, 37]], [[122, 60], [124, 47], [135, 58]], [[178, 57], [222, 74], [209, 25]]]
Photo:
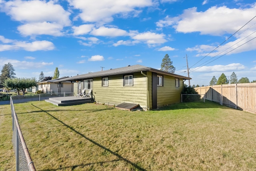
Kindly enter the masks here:
[[70, 12], [65, 11], [60, 4], [53, 0], [48, 2], [41, 0], [33, 1], [1, 1], [1, 11], [11, 16], [12, 20], [22, 22], [18, 26], [20, 34], [40, 35], [48, 34], [61, 36], [64, 26], [70, 26]]

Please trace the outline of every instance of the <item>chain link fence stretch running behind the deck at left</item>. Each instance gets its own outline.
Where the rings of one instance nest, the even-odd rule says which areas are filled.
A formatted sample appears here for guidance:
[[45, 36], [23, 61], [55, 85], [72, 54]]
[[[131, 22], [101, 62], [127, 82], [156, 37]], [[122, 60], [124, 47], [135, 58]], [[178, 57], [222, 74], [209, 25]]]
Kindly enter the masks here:
[[28, 101], [42, 101], [52, 97], [66, 97], [73, 96], [74, 92], [65, 91], [62, 93], [43, 93], [43, 94], [26, 94], [26, 95], [12, 95], [12, 101], [16, 103], [25, 103]]

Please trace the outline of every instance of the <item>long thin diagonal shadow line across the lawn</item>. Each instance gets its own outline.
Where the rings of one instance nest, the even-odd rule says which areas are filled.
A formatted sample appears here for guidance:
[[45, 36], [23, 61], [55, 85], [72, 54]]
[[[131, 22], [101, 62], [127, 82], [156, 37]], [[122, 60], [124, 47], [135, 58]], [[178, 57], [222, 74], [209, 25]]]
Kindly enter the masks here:
[[[33, 105], [33, 104], [32, 104]], [[115, 155], [116, 157], [118, 157], [120, 160], [123, 160], [127, 163], [129, 163], [130, 165], [132, 165], [133, 167], [135, 167], [136, 169], [138, 170], [141, 170], [141, 171], [146, 171], [146, 169], [143, 169], [142, 167], [136, 165], [135, 163], [132, 163], [131, 161], [129, 161], [128, 159], [122, 157], [121, 155], [119, 155], [118, 153], [115, 153], [114, 151], [104, 147], [103, 145], [100, 145], [99, 143], [97, 143], [96, 141], [93, 141], [92, 139], [86, 137], [85, 135], [83, 135], [82, 133], [76, 131], [76, 129], [70, 127], [69, 125], [67, 125], [66, 123], [64, 123], [63, 121], [61, 121], [60, 119], [54, 117], [53, 115], [51, 115], [50, 113], [48, 113], [47, 111], [44, 111], [43, 109], [41, 109], [40, 107], [37, 107], [35, 105], [33, 105], [34, 107], [40, 109], [41, 111], [47, 113], [48, 115], [50, 115], [51, 117], [53, 117], [54, 119], [56, 119], [57, 121], [59, 121], [60, 123], [62, 123], [63, 125], [65, 125], [66, 127], [68, 127], [69, 129], [71, 129], [72, 131], [74, 131], [75, 133], [77, 133], [78, 135], [80, 135], [81, 137], [84, 137], [85, 139], [87, 139], [88, 141], [90, 141], [91, 143], [94, 143], [95, 145], [97, 145], [98, 147], [110, 152], [111, 154]]]

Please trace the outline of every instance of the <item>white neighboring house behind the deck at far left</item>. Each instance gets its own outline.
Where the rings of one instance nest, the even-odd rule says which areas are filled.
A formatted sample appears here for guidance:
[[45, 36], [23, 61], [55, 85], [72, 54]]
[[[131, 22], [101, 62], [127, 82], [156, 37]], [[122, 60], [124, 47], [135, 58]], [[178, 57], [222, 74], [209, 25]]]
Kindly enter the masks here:
[[70, 82], [60, 82], [59, 80], [69, 77], [57, 78], [54, 80], [48, 80], [44, 82], [39, 82], [38, 90], [44, 93], [61, 93], [64, 91], [71, 91], [72, 85]]

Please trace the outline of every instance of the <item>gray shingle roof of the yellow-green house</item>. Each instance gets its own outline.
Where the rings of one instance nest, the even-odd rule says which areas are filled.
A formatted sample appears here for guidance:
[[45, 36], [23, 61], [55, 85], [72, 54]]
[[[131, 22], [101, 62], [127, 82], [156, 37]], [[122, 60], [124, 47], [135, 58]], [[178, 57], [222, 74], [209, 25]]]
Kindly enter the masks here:
[[164, 72], [160, 70], [156, 70], [154, 68], [142, 66], [142, 65], [134, 65], [134, 66], [126, 66], [122, 68], [116, 68], [116, 69], [110, 69], [110, 70], [105, 70], [105, 71], [99, 71], [99, 72], [92, 72], [88, 74], [82, 74], [82, 75], [77, 75], [69, 78], [63, 78], [60, 79], [60, 82], [65, 82], [65, 81], [76, 81], [76, 80], [83, 80], [86, 78], [95, 78], [95, 77], [104, 77], [104, 76], [113, 76], [113, 75], [118, 75], [118, 74], [130, 74], [134, 72], [140, 72], [140, 71], [152, 71], [160, 74], [165, 74], [165, 75], [170, 75], [178, 78], [183, 78], [185, 80], [189, 80], [191, 78], [180, 76], [177, 74], [172, 74], [169, 72]]

